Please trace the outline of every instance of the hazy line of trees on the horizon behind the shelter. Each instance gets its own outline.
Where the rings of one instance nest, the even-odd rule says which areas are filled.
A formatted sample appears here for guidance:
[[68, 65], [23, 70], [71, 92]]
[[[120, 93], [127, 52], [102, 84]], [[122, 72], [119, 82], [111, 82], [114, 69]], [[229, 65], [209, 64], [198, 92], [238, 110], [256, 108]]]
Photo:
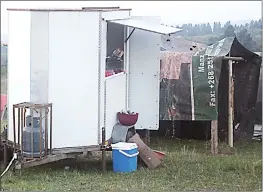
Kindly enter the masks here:
[[[261, 52], [261, 34], [262, 34], [262, 20], [251, 21], [245, 25], [232, 25], [230, 21], [225, 24], [214, 22], [213, 26], [207, 24], [183, 24], [176, 26], [183, 29], [177, 35], [188, 38], [189, 40], [198, 39], [199, 43], [211, 45], [225, 37], [236, 36], [237, 39], [250, 51]], [[204, 38], [195, 38], [203, 36]]]

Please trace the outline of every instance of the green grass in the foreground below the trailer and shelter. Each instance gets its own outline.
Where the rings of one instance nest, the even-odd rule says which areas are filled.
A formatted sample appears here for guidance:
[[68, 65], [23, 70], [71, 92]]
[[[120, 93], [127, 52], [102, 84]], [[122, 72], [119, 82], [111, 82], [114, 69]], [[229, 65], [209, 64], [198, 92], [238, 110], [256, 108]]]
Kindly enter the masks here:
[[[220, 145], [224, 154], [211, 156], [207, 142], [158, 140], [152, 148], [166, 152], [163, 166], [139, 167], [130, 174], [100, 171], [100, 161], [70, 162], [9, 172], [6, 190], [24, 191], [261, 191], [261, 143], [238, 144], [234, 150]], [[110, 155], [110, 154], [109, 154]], [[70, 169], [65, 170], [64, 166]], [[75, 167], [76, 166], [76, 167]]]

